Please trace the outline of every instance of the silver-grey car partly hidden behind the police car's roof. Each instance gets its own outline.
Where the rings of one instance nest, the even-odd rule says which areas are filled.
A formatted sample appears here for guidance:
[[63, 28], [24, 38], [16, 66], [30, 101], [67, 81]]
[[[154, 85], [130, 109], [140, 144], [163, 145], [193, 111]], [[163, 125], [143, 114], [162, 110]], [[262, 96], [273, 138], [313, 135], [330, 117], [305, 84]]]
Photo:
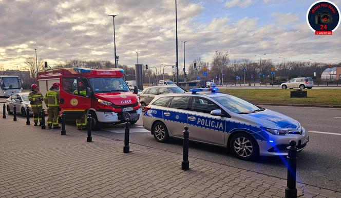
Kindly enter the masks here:
[[185, 93], [186, 91], [178, 86], [154, 86], [145, 88], [140, 94], [140, 103], [142, 107], [147, 106], [156, 95], [165, 93]]

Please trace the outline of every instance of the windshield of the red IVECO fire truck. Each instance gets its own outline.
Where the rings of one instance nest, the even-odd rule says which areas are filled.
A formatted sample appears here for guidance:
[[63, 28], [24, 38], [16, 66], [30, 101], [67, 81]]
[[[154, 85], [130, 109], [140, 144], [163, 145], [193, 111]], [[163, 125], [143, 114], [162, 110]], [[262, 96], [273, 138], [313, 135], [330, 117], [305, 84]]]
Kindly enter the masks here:
[[89, 81], [95, 93], [129, 91], [127, 84], [120, 77], [89, 78]]

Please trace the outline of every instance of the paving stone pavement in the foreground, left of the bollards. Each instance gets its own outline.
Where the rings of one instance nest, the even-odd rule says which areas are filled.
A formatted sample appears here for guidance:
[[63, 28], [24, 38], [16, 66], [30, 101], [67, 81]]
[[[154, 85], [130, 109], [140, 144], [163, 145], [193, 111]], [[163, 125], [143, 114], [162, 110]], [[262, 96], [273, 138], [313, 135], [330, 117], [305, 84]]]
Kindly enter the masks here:
[[[41, 130], [25, 118], [0, 120], [1, 197], [283, 197], [286, 180], [66, 128]], [[302, 197], [340, 192], [297, 183]]]

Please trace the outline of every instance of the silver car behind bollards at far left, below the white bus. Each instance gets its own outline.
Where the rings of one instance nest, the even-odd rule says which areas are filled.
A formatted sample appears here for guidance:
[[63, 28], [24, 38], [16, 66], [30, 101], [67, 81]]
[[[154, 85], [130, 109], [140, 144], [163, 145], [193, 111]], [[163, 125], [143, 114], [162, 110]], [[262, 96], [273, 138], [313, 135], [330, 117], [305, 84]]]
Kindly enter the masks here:
[[22, 92], [12, 95], [6, 100], [6, 109], [8, 114], [13, 113], [14, 105], [16, 107], [16, 113], [20, 113], [22, 116], [26, 116], [26, 108], [30, 110], [30, 115], [33, 115], [30, 101], [28, 100], [29, 92]]

